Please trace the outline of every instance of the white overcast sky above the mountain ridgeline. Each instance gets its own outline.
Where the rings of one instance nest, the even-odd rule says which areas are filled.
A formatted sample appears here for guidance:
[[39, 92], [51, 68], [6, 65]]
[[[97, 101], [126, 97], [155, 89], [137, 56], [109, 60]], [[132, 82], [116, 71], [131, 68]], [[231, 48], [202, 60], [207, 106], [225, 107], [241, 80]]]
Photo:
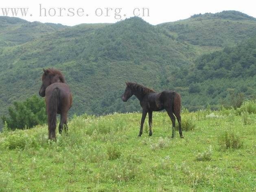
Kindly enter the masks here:
[[[44, 16], [44, 9], [42, 9], [41, 17], [40, 5], [42, 8], [46, 9], [47, 16]], [[29, 8], [27, 16], [17, 15], [22, 19], [28, 21], [39, 21], [39, 22], [51, 22], [51, 23], [61, 23], [63, 25], [74, 26], [81, 23], [114, 23], [119, 19], [118, 15], [115, 18], [115, 9], [122, 8], [120, 15], [121, 19], [133, 16], [133, 10], [136, 9], [136, 15], [140, 13], [142, 16], [142, 8], [149, 9], [149, 16], [142, 17], [143, 20], [149, 22], [150, 24], [160, 24], [163, 22], [171, 22], [176, 20], [182, 20], [190, 17], [194, 14], [199, 13], [217, 13], [223, 10], [236, 10], [246, 13], [247, 15], [256, 17], [256, 1], [255, 0], [70, 0], [70, 1], [60, 1], [60, 0], [9, 0], [0, 2], [0, 16], [3, 15], [1, 8]], [[54, 9], [56, 11], [55, 16], [50, 16], [48, 11], [50, 8], [50, 14], [54, 15]], [[61, 11], [62, 17], [60, 17], [59, 8], [65, 8]], [[72, 13], [68, 12], [69, 8]], [[77, 15], [77, 9], [83, 8], [84, 13], [79, 13]], [[97, 14], [103, 14], [101, 16], [96, 16], [95, 11], [98, 9]], [[109, 16], [106, 15], [105, 8], [112, 8], [109, 10]], [[79, 11], [82, 11], [79, 9]], [[118, 10], [116, 10], [118, 11]], [[9, 14], [11, 11], [9, 11]], [[18, 11], [18, 13], [20, 13]], [[88, 16], [86, 16], [88, 14]], [[32, 15], [32, 16], [31, 16]], [[126, 16], [124, 16], [126, 15]], [[8, 15], [11, 16], [11, 15]]]

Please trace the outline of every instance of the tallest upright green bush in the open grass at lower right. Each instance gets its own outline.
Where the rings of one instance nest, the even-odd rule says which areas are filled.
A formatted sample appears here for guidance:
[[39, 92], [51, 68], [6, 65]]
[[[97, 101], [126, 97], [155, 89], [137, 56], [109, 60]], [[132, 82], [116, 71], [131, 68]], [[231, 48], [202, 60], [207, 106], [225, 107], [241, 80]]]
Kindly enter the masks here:
[[243, 142], [234, 132], [229, 133], [225, 131], [225, 133], [219, 137], [219, 145], [222, 150], [238, 149], [243, 147]]

